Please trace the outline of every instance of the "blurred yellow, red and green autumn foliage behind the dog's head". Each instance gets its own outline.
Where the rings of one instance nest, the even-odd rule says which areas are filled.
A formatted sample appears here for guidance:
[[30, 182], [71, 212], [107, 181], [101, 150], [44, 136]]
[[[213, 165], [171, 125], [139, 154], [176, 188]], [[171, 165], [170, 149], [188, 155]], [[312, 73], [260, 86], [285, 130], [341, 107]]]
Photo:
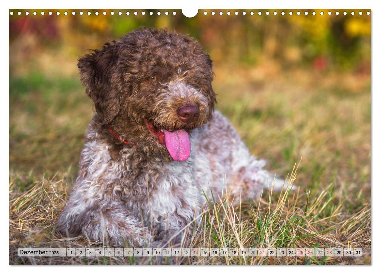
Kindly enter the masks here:
[[[317, 10], [316, 15], [309, 11], [307, 16], [304, 10], [301, 15], [293, 11], [293, 15], [276, 16], [270, 11], [270, 15], [258, 15], [254, 11], [250, 15], [226, 15], [221, 16], [216, 11], [211, 15], [203, 15], [200, 10], [194, 18], [182, 16], [180, 10], [169, 10], [169, 15], [161, 11], [161, 15], [149, 15], [150, 10], [142, 15], [126, 15], [126, 10], [115, 10], [111, 15], [71, 15], [72, 10], [67, 10], [68, 15], [60, 11], [57, 16], [37, 15], [32, 12], [28, 16], [17, 14], [10, 17], [9, 38], [11, 47], [11, 71], [19, 73], [20, 59], [23, 63], [33, 60], [39, 66], [49, 66], [48, 60], [41, 60], [41, 54], [45, 51], [55, 51], [59, 59], [55, 62], [76, 60], [86, 49], [99, 48], [102, 43], [114, 40], [125, 35], [129, 31], [141, 26], [168, 28], [180, 33], [195, 37], [204, 46], [204, 49], [212, 56], [215, 62], [223, 62], [237, 65], [256, 66], [270, 64], [277, 69], [289, 67], [314, 68], [315, 70], [359, 70], [368, 72], [370, 63], [370, 16], [365, 13], [359, 15], [338, 16], [335, 11], [331, 15], [326, 10]], [[172, 15], [173, 11], [176, 15]], [[324, 11], [324, 15], [319, 12]], [[366, 12], [366, 11], [364, 11]], [[46, 54], [44, 54], [46, 57]], [[46, 57], [47, 58], [47, 57]], [[38, 59], [38, 60], [35, 60]], [[64, 63], [60, 62], [62, 65]], [[43, 65], [44, 64], [44, 65]], [[60, 66], [59, 66], [60, 67]], [[60, 73], [65, 67], [60, 67]], [[65, 68], [64, 73], [75, 71], [75, 66]], [[51, 71], [54, 73], [54, 71]]]

